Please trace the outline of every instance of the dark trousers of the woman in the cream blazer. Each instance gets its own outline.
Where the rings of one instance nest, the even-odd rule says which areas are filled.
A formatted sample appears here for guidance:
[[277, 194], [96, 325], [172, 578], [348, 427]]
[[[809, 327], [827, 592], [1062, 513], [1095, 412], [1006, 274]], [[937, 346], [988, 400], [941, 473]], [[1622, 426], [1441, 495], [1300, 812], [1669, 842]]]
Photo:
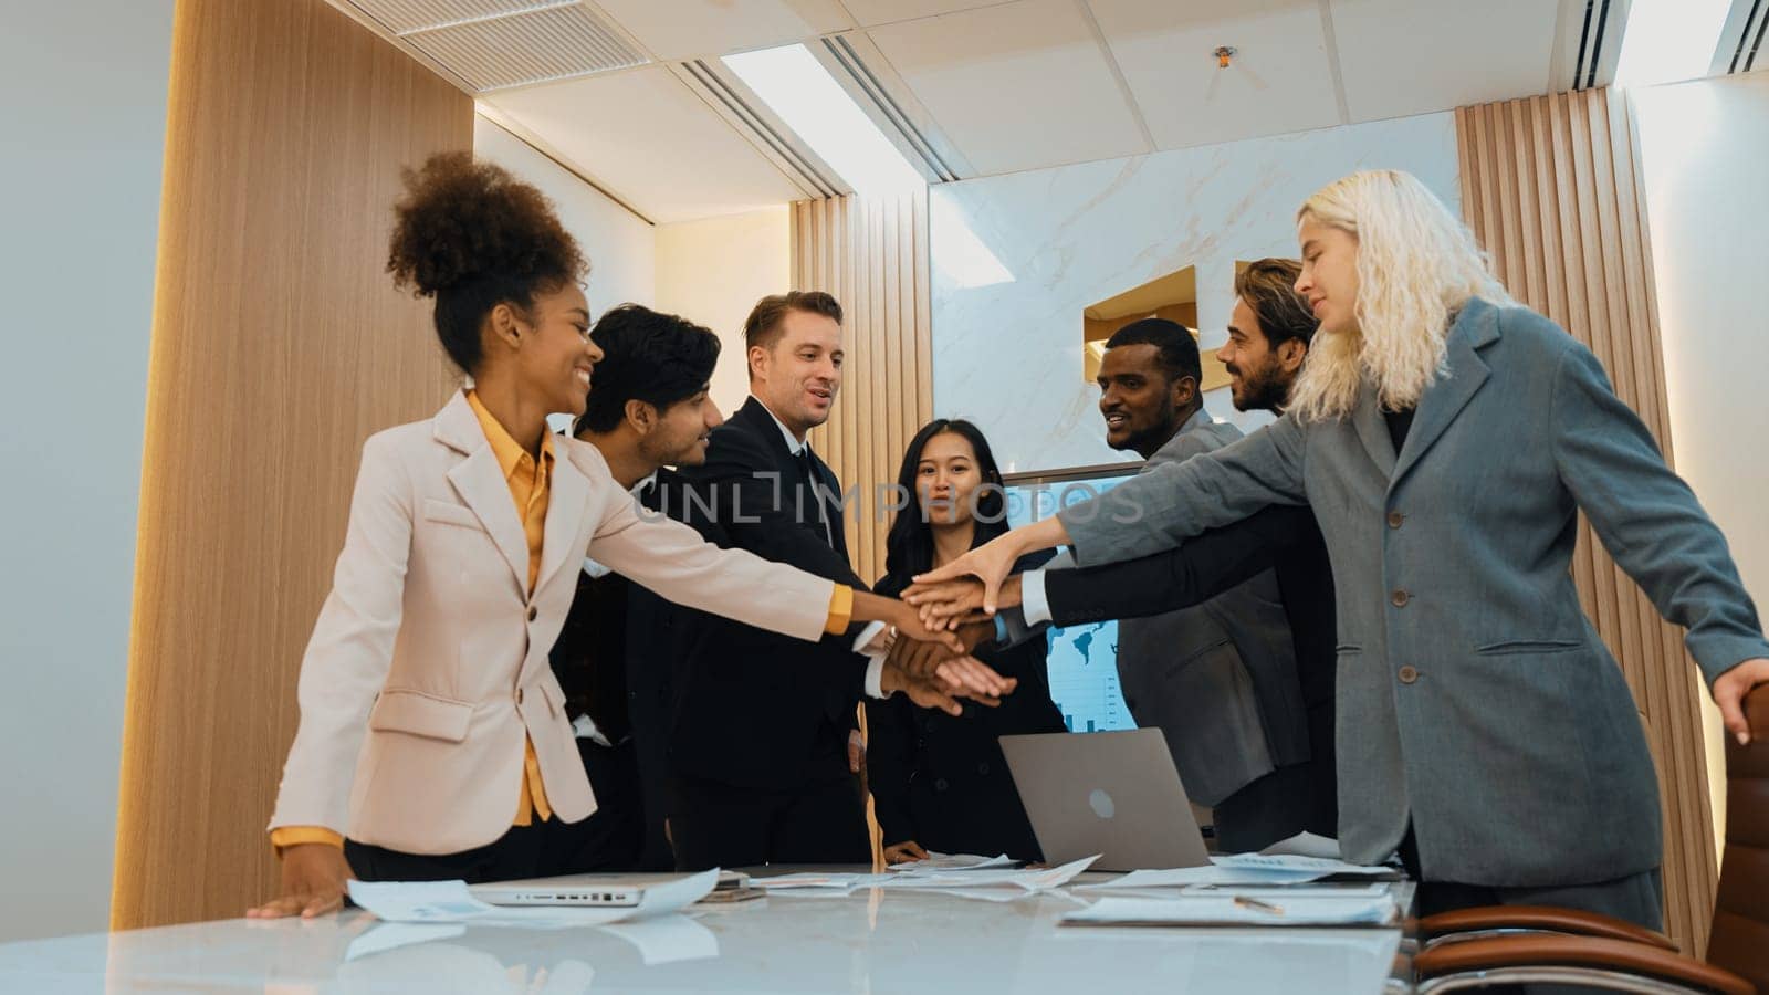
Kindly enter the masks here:
[[364, 882], [509, 882], [639, 868], [644, 809], [632, 744], [617, 747], [578, 740], [596, 811], [580, 821], [557, 816], [509, 832], [460, 853], [405, 853], [347, 839], [343, 855]]

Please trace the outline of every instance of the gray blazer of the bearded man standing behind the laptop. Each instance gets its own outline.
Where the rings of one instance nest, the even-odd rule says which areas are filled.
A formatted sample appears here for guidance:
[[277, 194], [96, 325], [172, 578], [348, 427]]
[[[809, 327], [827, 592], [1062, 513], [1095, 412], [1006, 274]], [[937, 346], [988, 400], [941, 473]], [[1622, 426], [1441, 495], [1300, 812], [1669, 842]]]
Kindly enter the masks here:
[[[1143, 473], [1240, 436], [1199, 409]], [[1136, 724], [1162, 731], [1185, 793], [1201, 806], [1309, 760], [1297, 650], [1270, 570], [1199, 605], [1120, 621], [1118, 680]]]

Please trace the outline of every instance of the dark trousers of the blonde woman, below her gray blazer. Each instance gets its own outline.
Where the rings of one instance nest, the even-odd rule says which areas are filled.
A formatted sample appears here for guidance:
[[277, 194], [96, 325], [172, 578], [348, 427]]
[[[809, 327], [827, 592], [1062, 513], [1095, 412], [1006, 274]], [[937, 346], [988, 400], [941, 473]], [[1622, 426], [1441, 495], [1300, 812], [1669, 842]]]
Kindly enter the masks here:
[[[1479, 908], [1482, 905], [1550, 905], [1613, 915], [1647, 929], [1665, 929], [1665, 883], [1658, 868], [1583, 885], [1491, 887], [1428, 882], [1421, 878], [1419, 843], [1413, 839], [1412, 827], [1406, 829], [1406, 837], [1401, 839], [1401, 864], [1406, 868], [1406, 875], [1419, 882], [1419, 889], [1413, 892], [1413, 906], [1421, 919], [1436, 915], [1438, 912]], [[1486, 995], [1518, 991], [1525, 991], [1527, 995], [1571, 995], [1574, 991], [1597, 990], [1564, 984], [1530, 984], [1527, 988], [1495, 984], [1481, 991]]]

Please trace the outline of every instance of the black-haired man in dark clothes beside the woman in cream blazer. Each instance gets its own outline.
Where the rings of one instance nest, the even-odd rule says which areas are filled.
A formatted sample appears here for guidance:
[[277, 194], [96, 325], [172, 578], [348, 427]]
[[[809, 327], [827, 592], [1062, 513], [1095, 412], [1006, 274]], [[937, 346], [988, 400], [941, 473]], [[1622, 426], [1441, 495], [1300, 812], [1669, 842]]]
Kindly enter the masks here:
[[[704, 462], [708, 436], [724, 421], [708, 395], [718, 336], [676, 315], [621, 305], [601, 315], [591, 338], [603, 358], [575, 434], [655, 512], [678, 480], [669, 467]], [[596, 813], [561, 873], [674, 868], [663, 825], [674, 621], [667, 607], [593, 559], [578, 572], [552, 667]]]

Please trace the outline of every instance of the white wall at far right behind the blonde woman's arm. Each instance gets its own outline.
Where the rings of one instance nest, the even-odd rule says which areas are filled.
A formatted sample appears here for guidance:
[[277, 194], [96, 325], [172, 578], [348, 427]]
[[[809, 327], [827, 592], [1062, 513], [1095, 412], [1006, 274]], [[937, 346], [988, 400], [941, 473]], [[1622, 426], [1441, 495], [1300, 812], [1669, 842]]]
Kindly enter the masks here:
[[[1665, 343], [1677, 473], [1727, 533], [1744, 586], [1769, 609], [1769, 73], [1631, 94]], [[1704, 692], [1716, 834], [1725, 825], [1719, 713]]]

